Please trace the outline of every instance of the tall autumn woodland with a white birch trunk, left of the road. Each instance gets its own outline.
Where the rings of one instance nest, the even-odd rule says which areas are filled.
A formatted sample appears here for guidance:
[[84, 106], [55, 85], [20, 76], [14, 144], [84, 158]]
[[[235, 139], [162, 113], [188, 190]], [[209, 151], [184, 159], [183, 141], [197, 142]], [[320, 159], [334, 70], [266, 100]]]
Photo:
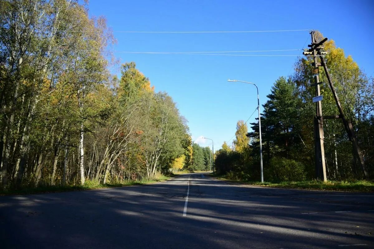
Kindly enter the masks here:
[[172, 98], [134, 62], [110, 74], [114, 37], [85, 3], [0, 1], [0, 16], [3, 189], [152, 179], [192, 165]]

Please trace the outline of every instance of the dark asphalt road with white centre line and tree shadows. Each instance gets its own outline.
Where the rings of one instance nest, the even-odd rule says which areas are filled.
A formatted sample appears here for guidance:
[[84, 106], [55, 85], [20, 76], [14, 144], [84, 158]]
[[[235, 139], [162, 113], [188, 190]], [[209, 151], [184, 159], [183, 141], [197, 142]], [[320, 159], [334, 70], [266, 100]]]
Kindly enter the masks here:
[[374, 194], [230, 185], [195, 173], [0, 196], [0, 248], [374, 248]]

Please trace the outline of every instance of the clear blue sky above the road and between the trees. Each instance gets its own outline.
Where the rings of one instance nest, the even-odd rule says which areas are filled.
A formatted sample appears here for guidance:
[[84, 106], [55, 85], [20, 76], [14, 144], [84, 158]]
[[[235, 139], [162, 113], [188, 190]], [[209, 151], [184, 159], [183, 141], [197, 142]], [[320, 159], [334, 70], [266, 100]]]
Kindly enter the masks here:
[[[89, 14], [105, 16], [119, 52], [220, 52], [306, 48], [309, 31], [254, 33], [123, 33], [118, 31], [266, 31], [316, 29], [374, 75], [374, 1], [120, 1], [91, 0]], [[235, 53], [301, 55], [301, 50]], [[233, 53], [229, 53], [233, 54]], [[292, 73], [294, 56], [222, 56], [115, 53], [134, 61], [156, 91], [166, 91], [188, 120], [193, 140], [214, 149], [229, 141], [236, 122], [247, 120], [281, 76]], [[119, 71], [115, 72], [119, 74]], [[311, 100], [312, 101], [312, 100]], [[261, 107], [262, 109], [262, 107]], [[249, 119], [255, 122], [257, 112]], [[233, 140], [229, 141], [231, 145]]]

